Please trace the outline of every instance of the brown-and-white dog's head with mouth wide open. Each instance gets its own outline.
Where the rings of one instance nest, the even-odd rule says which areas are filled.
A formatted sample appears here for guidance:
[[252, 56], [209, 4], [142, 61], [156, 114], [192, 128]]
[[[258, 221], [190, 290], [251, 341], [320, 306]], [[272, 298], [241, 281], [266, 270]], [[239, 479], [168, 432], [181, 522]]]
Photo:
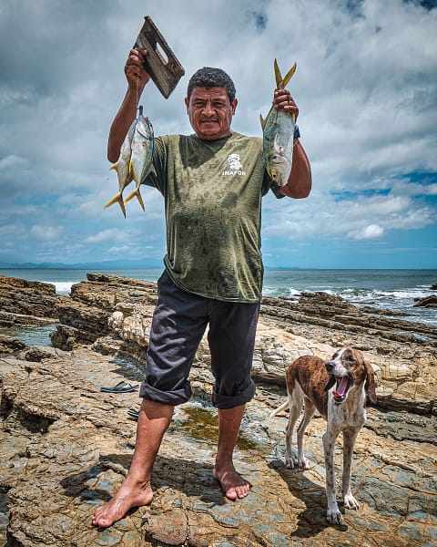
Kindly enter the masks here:
[[330, 361], [325, 363], [325, 366], [330, 375], [325, 391], [335, 386], [332, 397], [336, 403], [345, 401], [350, 388], [360, 386], [363, 382], [365, 382], [364, 388], [371, 403], [376, 403], [373, 369], [364, 361], [360, 350], [343, 347], [335, 352]]

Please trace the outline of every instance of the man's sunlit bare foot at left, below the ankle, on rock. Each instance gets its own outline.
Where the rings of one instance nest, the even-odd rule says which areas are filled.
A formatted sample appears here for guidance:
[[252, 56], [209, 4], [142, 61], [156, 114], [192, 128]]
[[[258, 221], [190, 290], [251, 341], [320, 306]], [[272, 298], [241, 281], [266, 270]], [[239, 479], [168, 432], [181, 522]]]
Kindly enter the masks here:
[[150, 482], [138, 483], [127, 479], [116, 495], [95, 511], [93, 524], [99, 528], [112, 526], [114, 522], [122, 519], [127, 511], [133, 507], [148, 505], [152, 499], [153, 490], [150, 487]]

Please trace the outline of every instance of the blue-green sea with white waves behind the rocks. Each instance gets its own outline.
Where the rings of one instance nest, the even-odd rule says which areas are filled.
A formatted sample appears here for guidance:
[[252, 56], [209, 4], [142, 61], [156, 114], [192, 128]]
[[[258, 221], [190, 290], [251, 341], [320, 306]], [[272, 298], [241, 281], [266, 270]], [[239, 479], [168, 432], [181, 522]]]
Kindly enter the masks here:
[[[69, 294], [72, 284], [86, 280], [92, 270], [79, 269], [0, 269], [9, 275], [56, 285], [56, 292]], [[99, 269], [102, 274], [124, 275], [157, 281], [161, 269]], [[295, 299], [303, 292], [336, 294], [357, 306], [371, 305], [405, 319], [437, 326], [437, 310], [413, 307], [415, 298], [437, 294], [437, 270], [274, 270], [266, 269], [263, 294]]]

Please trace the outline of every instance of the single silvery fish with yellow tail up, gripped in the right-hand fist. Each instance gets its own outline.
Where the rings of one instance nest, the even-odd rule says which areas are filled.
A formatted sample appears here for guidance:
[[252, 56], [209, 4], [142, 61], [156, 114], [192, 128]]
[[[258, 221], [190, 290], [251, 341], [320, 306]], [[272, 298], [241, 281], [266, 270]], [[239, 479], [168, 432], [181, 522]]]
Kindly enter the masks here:
[[[282, 77], [276, 59], [274, 68], [276, 88], [284, 89], [296, 71], [296, 63], [285, 77]], [[276, 181], [279, 187], [285, 186], [289, 181], [293, 161], [293, 134], [296, 117], [290, 112], [276, 110], [272, 106], [266, 119], [263, 119], [261, 115], [259, 115], [259, 119], [262, 128], [264, 165], [270, 179]]]

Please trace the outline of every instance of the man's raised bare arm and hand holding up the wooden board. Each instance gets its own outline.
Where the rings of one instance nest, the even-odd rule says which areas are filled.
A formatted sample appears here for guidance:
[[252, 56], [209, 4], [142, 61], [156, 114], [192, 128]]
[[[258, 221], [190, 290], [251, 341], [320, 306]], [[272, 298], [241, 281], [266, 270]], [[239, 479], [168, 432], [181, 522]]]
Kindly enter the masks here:
[[127, 92], [120, 108], [118, 108], [111, 129], [109, 129], [109, 138], [107, 140], [107, 159], [112, 163], [118, 160], [120, 148], [126, 137], [132, 120], [137, 115], [137, 105], [139, 98], [150, 79], [143, 67], [144, 57], [147, 55], [146, 49], [131, 49], [125, 65], [125, 75], [127, 78]]

